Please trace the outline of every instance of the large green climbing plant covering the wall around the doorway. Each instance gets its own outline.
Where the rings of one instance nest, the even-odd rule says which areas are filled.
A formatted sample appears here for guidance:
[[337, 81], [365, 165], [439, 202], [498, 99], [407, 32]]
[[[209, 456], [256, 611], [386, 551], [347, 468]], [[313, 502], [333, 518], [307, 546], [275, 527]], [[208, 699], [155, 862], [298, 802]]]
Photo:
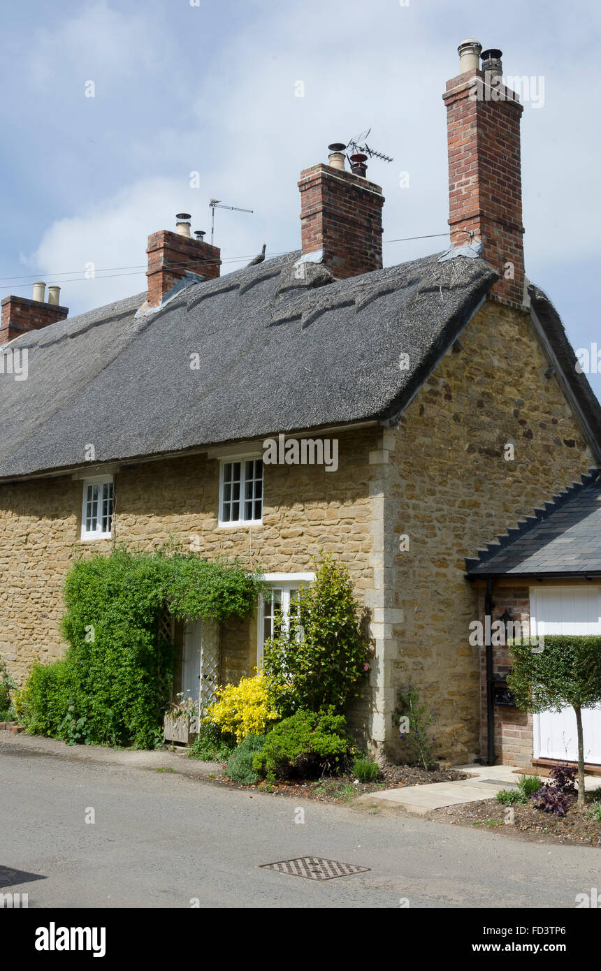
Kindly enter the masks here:
[[78, 559], [65, 583], [65, 657], [36, 664], [21, 702], [30, 732], [87, 744], [152, 748], [173, 679], [172, 646], [160, 633], [178, 619], [245, 617], [260, 589], [238, 563], [192, 552], [117, 548]]

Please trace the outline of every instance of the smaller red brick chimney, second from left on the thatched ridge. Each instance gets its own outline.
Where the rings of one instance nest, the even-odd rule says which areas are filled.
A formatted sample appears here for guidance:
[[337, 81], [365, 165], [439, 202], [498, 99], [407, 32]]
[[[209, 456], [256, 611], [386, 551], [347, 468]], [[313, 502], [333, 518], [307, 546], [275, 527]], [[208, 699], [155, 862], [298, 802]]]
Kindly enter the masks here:
[[204, 233], [195, 233], [196, 239], [192, 239], [187, 213], [179, 213], [176, 218], [175, 233], [163, 229], [149, 236], [149, 307], [158, 307], [186, 275], [192, 274], [202, 280], [214, 280], [219, 276], [219, 248], [205, 243]]

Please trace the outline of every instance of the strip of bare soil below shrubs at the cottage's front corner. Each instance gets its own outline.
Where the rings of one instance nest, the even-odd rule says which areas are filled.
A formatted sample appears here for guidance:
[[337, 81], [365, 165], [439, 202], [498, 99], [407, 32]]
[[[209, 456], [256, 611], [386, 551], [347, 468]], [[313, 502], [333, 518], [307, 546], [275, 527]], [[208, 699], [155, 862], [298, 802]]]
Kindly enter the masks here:
[[365, 792], [378, 792], [381, 789], [404, 786], [426, 786], [429, 783], [456, 782], [467, 778], [465, 772], [457, 772], [456, 769], [437, 768], [426, 771], [415, 765], [387, 764], [381, 769], [378, 780], [373, 783], [357, 783], [353, 775], [329, 776], [318, 780], [299, 779], [272, 785], [259, 783], [257, 786], [240, 786], [226, 776], [217, 776], [215, 781], [223, 786], [248, 789], [250, 792], [255, 789], [258, 792], [275, 792], [277, 795], [293, 796], [295, 799], [346, 803]]

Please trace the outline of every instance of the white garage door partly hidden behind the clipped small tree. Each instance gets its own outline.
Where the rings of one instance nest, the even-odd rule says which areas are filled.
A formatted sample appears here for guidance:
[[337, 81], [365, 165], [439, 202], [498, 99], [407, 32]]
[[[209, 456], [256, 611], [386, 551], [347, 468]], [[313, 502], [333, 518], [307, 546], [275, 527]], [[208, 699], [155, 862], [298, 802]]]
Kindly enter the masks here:
[[[597, 586], [537, 586], [530, 589], [533, 634], [601, 634]], [[576, 716], [572, 708], [533, 717], [535, 758], [578, 760]], [[583, 711], [584, 761], [601, 764], [601, 707]]]

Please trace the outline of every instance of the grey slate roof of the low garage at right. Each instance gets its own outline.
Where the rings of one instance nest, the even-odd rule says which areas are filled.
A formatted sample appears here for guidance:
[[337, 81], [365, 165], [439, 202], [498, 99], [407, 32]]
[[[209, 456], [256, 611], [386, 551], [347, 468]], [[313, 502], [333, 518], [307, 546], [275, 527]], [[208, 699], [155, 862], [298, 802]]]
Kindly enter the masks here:
[[466, 566], [471, 577], [601, 576], [599, 470], [553, 496]]

